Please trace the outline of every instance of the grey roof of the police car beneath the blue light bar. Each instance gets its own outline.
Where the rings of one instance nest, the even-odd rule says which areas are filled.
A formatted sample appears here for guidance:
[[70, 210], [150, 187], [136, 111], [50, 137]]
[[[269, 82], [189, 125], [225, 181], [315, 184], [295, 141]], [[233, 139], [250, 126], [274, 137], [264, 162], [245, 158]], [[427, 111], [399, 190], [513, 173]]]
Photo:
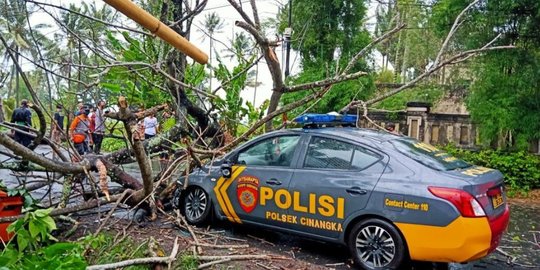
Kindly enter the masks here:
[[287, 131], [345, 137], [354, 141], [362, 141], [362, 139], [365, 139], [378, 143], [402, 137], [400, 135], [395, 135], [386, 131], [356, 127], [293, 128], [281, 130], [281, 132]]

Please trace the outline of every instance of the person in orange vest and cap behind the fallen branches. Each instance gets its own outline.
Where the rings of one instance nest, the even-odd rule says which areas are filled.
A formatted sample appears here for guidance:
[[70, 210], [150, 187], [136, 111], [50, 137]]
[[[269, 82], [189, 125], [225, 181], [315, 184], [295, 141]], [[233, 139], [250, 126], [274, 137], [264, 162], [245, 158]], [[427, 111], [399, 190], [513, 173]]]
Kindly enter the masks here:
[[90, 136], [90, 107], [83, 106], [83, 110], [69, 126], [69, 134], [75, 149], [80, 155], [90, 153], [89, 144], [92, 144], [92, 137]]

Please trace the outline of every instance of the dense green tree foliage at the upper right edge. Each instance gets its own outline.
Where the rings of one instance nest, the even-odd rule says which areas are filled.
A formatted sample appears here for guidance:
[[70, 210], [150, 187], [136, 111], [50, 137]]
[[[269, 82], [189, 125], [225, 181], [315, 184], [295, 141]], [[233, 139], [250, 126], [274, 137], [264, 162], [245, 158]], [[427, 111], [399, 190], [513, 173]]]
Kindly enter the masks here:
[[[449, 18], [469, 2], [437, 1], [432, 20], [438, 31], [446, 31]], [[502, 148], [525, 150], [528, 141], [540, 138], [539, 24], [539, 1], [481, 1], [451, 44], [458, 49], [478, 48], [501, 34], [498, 44], [518, 47], [487, 53], [472, 65], [475, 80], [467, 105], [485, 145], [499, 140]]]

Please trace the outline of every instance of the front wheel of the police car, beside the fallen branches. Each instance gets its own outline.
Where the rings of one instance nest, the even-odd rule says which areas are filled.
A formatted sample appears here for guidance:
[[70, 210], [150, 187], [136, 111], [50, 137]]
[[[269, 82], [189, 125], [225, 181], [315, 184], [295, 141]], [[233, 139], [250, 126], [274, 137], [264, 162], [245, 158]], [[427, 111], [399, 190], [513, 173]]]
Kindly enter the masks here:
[[210, 214], [210, 200], [202, 188], [191, 188], [185, 191], [183, 212], [186, 221], [193, 225], [203, 224]]

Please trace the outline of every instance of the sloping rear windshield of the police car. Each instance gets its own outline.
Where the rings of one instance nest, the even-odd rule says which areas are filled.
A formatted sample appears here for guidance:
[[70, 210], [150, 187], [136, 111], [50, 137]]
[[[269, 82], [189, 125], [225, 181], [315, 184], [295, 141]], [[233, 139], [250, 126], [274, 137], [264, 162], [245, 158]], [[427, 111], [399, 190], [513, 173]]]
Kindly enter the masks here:
[[391, 142], [402, 154], [435, 170], [450, 171], [471, 166], [471, 164], [455, 158], [427, 143], [406, 138]]

